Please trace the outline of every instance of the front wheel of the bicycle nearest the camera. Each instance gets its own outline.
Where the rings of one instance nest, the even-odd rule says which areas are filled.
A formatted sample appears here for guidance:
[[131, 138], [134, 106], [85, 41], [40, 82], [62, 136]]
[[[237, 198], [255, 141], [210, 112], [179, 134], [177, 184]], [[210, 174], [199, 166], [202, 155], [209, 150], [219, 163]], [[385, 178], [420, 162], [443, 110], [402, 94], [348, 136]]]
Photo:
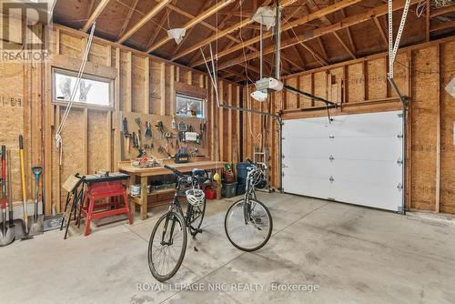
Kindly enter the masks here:
[[148, 267], [160, 282], [171, 279], [187, 250], [187, 225], [180, 214], [169, 211], [158, 219], [148, 242]]

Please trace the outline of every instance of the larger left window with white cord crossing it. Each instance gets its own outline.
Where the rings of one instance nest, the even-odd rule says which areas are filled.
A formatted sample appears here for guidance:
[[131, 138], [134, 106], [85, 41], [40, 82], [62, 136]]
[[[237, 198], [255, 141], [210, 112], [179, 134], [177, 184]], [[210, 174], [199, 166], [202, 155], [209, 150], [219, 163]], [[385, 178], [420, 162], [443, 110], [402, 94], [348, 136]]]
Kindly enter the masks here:
[[[54, 69], [53, 96], [56, 102], [69, 102], [76, 86], [77, 73]], [[76, 90], [75, 103], [112, 106], [112, 79], [84, 75]]]

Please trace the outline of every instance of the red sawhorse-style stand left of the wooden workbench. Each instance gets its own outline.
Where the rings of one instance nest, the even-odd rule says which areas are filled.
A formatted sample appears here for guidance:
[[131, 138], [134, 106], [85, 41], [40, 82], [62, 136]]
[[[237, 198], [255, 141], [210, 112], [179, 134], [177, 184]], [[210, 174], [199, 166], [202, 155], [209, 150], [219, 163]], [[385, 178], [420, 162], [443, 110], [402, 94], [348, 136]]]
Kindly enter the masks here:
[[[133, 224], [126, 187], [122, 180], [104, 181], [102, 178], [91, 179], [90, 177], [86, 177], [87, 187], [84, 195], [84, 204], [81, 208], [81, 216], [86, 218], [84, 236], [90, 234], [90, 222], [94, 218], [107, 218], [125, 213], [129, 224]], [[99, 200], [105, 198], [107, 198], [107, 202], [100, 204]], [[122, 198], [123, 204], [120, 203]], [[97, 201], [98, 203], [96, 204]]]

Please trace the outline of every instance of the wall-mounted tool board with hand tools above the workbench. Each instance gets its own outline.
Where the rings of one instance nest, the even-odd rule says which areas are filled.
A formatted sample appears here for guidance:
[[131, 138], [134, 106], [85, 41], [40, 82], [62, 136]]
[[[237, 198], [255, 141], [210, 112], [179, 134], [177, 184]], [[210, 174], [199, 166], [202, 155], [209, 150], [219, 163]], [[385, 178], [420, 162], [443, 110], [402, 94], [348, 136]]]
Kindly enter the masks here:
[[[169, 116], [160, 116], [155, 114], [143, 114], [136, 112], [120, 112], [120, 119], [118, 127], [118, 132], [120, 132], [120, 151], [121, 159], [128, 160], [136, 158], [139, 154], [139, 151], [136, 147], [133, 147], [133, 139], [129, 138], [129, 149], [128, 149], [128, 139], [124, 137], [123, 133], [123, 120], [126, 118], [126, 125], [128, 133], [133, 134], [137, 133], [139, 130], [139, 125], [136, 123], [136, 118], [140, 119], [140, 141], [141, 146], [144, 147], [148, 145], [153, 148], [146, 149], [147, 157], [155, 157], [157, 159], [167, 159], [169, 156], [166, 152], [158, 152], [158, 147], [166, 147], [169, 154], [172, 156], [175, 155], [179, 147], [187, 148], [187, 152], [192, 155], [192, 159], [200, 159], [201, 157], [209, 158], [209, 130], [207, 121], [204, 119], [198, 118], [189, 118], [189, 117], [175, 117], [177, 128], [172, 129], [172, 117]], [[161, 131], [156, 127], [157, 122], [162, 121], [165, 132], [170, 132], [172, 137], [166, 138], [162, 135]], [[146, 122], [151, 124], [152, 137], [146, 137]], [[196, 142], [181, 142], [178, 137], [178, 123], [184, 122], [187, 124], [187, 127], [192, 126], [193, 132], [200, 133], [201, 124], [204, 126], [206, 123], [206, 132], [205, 135], [201, 138], [200, 144]], [[197, 148], [197, 153], [191, 153], [194, 149]]]

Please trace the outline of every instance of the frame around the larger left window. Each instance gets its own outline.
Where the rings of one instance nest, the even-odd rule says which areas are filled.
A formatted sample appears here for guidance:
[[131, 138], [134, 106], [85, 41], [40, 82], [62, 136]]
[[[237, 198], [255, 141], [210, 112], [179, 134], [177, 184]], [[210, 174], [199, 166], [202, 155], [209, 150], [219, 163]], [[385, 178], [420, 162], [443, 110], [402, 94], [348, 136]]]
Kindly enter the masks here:
[[[66, 75], [66, 76], [73, 76], [77, 77], [77, 72], [73, 70], [68, 70], [65, 68], [60, 68], [60, 67], [53, 67], [52, 68], [52, 104], [57, 105], [57, 106], [66, 106], [68, 105], [69, 101], [64, 101], [64, 100], [58, 100], [56, 99], [56, 74], [61, 74], [61, 75]], [[91, 74], [86, 74], [84, 73], [82, 76], [83, 79], [88, 79], [92, 81], [98, 81], [98, 82], [104, 82], [109, 85], [109, 105], [97, 105], [97, 104], [91, 104], [91, 103], [82, 103], [80, 101], [75, 101], [73, 103], [74, 107], [80, 107], [80, 108], [95, 108], [95, 109], [102, 109], [106, 111], [112, 111], [115, 109], [115, 80], [108, 78], [108, 77], [103, 77], [103, 76], [95, 76]]]

